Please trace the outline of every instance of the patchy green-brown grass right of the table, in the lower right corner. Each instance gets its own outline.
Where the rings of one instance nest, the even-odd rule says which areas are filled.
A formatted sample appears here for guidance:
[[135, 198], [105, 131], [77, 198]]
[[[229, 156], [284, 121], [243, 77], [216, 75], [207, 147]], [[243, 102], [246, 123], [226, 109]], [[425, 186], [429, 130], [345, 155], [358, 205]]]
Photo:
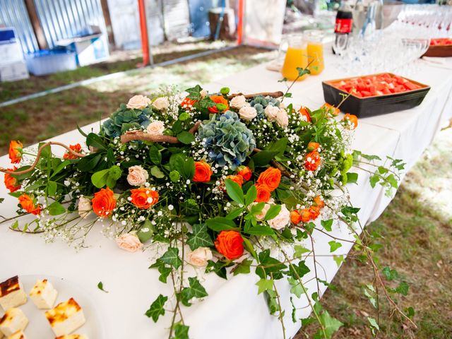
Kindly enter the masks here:
[[[381, 266], [396, 269], [410, 284], [408, 296], [398, 298], [398, 304], [402, 309], [414, 307], [418, 327], [391, 316], [381, 297], [379, 338], [452, 338], [451, 148], [448, 129], [439, 133], [405, 177], [396, 198], [368, 227], [384, 237]], [[372, 278], [369, 267], [351, 259], [340, 268], [333, 279], [337, 291], [328, 290], [322, 299], [330, 314], [345, 324], [333, 338], [372, 338], [366, 318], [376, 317], [375, 310], [360, 291]], [[296, 338], [311, 338], [315, 331], [316, 326], [308, 326]]]

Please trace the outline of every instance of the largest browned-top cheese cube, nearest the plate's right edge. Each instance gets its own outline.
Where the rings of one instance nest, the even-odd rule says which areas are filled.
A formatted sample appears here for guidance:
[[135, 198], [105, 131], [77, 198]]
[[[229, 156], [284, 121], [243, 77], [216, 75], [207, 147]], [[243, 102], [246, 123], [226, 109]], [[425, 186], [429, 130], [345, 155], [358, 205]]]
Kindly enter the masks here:
[[67, 302], [60, 302], [53, 309], [45, 311], [55, 336], [68, 335], [85, 323], [83, 309], [71, 298]]

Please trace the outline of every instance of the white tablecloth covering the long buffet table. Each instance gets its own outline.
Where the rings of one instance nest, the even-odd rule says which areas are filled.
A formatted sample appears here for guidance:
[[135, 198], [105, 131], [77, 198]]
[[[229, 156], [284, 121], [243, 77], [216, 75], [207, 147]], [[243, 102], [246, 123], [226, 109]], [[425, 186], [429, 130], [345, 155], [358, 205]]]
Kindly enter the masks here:
[[[339, 70], [328, 67], [333, 58], [335, 57], [332, 54], [326, 53], [326, 71], [296, 83], [291, 90], [295, 99], [286, 99], [287, 103], [293, 102], [297, 107], [304, 105], [313, 109], [320, 107], [323, 104], [321, 81], [344, 76]], [[411, 78], [432, 86], [422, 105], [403, 112], [360, 119], [353, 148], [381, 157], [390, 155], [401, 158], [408, 163], [408, 168], [412, 166], [431, 143], [441, 124], [452, 116], [452, 60], [448, 60], [447, 65], [451, 68], [420, 64], [417, 74]], [[282, 77], [279, 73], [268, 71], [263, 64], [210, 83], [204, 88], [219, 90], [227, 86], [232, 93], [285, 90], [285, 84], [278, 83], [280, 78]], [[98, 128], [97, 122], [83, 127], [83, 130], [97, 131]], [[66, 144], [83, 142], [83, 139], [78, 131], [52, 138], [53, 141]], [[54, 153], [62, 155], [63, 152], [54, 148]], [[0, 157], [0, 166], [9, 166], [8, 156]], [[362, 225], [365, 225], [378, 218], [391, 199], [385, 197], [381, 187], [371, 189], [367, 172], [355, 172], [359, 172], [359, 186], [348, 185], [348, 189], [352, 203], [361, 208], [359, 218]], [[3, 185], [0, 185], [0, 197], [5, 198], [0, 205], [0, 214], [5, 217], [13, 216], [16, 198], [8, 196]], [[338, 237], [352, 239], [345, 225], [335, 225], [333, 230]], [[331, 238], [314, 232], [314, 240], [320, 278], [329, 282], [338, 270], [331, 256], [322, 256], [330, 254], [328, 242]], [[12, 275], [41, 275], [70, 280], [79, 285], [96, 305], [102, 338], [167, 338], [165, 326], [169, 323], [169, 312], [165, 314], [167, 319], [162, 319], [157, 324], [143, 315], [157, 295], [172, 294], [169, 285], [158, 282], [157, 270], [148, 269], [155, 260], [154, 251], [135, 254], [121, 251], [111, 239], [103, 237], [100, 232], [90, 234], [88, 245], [90, 246], [87, 249], [77, 252], [64, 242], [46, 244], [44, 239], [37, 235], [20, 234], [8, 230], [6, 224], [1, 225], [0, 279]], [[311, 245], [305, 246], [309, 248]], [[346, 256], [351, 246], [350, 242], [343, 242], [343, 246], [335, 254]], [[309, 258], [307, 266], [311, 271], [314, 270], [314, 263]], [[210, 273], [199, 278], [209, 297], [184, 312], [184, 320], [190, 326], [190, 338], [283, 338], [278, 319], [268, 313], [263, 295], [257, 295], [257, 287], [254, 285], [258, 279], [256, 275], [236, 275], [229, 280], [222, 280]], [[312, 275], [308, 274], [304, 280], [310, 278]], [[100, 281], [109, 293], [97, 288]], [[299, 323], [292, 323], [290, 319], [290, 286], [287, 282], [278, 280], [277, 287], [286, 310], [287, 336], [291, 337], [299, 330]], [[307, 287], [310, 292], [314, 292], [315, 281], [308, 282]], [[322, 292], [326, 289], [324, 285], [321, 285], [321, 288]], [[294, 301], [297, 307], [307, 306], [303, 297]], [[304, 308], [297, 316], [306, 317], [309, 313], [310, 309]], [[32, 333], [30, 338], [33, 338]]]

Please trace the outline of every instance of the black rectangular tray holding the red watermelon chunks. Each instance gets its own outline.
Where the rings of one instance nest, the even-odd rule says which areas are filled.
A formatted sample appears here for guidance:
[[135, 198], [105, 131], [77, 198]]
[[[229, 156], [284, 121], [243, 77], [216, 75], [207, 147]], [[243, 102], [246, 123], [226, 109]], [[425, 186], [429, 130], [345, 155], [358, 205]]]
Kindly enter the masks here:
[[[371, 74], [369, 76], [379, 76], [380, 74], [384, 73]], [[388, 74], [395, 76], [393, 73]], [[353, 78], [356, 78], [356, 76], [323, 81], [323, 97], [325, 97], [325, 101], [328, 102], [328, 104], [337, 107], [343, 100], [343, 95], [348, 95], [348, 93], [336, 88], [335, 84]], [[339, 108], [343, 112], [355, 114], [357, 117], [364, 118], [403, 111], [404, 109], [419, 106], [422, 103], [422, 100], [424, 100], [425, 95], [429, 92], [430, 86], [418, 83], [417, 81], [412, 81], [408, 78], [405, 79], [420, 85], [421, 88], [403, 93], [376, 95], [374, 97], [357, 97], [352, 94], [350, 97], [347, 97], [347, 100], [345, 100]]]

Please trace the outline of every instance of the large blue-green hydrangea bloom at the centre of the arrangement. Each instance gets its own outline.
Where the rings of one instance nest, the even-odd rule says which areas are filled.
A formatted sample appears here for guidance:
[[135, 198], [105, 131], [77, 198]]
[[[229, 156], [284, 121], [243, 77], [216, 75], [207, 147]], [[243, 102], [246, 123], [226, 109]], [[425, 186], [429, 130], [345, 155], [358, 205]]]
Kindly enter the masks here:
[[242, 164], [256, 147], [253, 133], [231, 111], [215, 114], [201, 126], [198, 138], [203, 141], [210, 161], [231, 169]]

